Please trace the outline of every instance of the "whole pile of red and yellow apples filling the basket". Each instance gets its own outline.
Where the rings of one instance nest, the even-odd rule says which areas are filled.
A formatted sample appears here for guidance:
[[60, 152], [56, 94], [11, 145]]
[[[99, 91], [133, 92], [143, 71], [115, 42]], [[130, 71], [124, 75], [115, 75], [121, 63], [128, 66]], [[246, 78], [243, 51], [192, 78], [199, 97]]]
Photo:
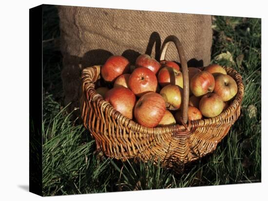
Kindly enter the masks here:
[[[223, 67], [212, 64], [202, 71], [188, 67], [188, 73], [188, 121], [216, 117], [228, 108], [237, 84]], [[106, 86], [96, 92], [125, 117], [150, 128], [181, 124], [183, 75], [177, 63], [142, 54], [132, 66], [115, 55], [101, 67], [101, 77]]]

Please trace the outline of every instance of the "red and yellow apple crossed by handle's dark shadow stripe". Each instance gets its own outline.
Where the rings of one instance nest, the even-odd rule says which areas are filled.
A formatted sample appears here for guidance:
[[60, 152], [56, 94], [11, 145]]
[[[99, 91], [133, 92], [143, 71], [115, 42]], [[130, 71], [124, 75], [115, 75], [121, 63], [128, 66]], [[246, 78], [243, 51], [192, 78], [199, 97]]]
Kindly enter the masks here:
[[182, 72], [172, 67], [161, 68], [157, 75], [157, 81], [162, 87], [176, 84], [183, 88]]

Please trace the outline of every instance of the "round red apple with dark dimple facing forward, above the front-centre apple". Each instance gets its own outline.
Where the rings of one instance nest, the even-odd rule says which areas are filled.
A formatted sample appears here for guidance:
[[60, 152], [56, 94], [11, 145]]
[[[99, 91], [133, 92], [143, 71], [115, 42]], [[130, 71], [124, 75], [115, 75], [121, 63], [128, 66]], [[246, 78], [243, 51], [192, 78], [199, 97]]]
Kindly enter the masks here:
[[129, 77], [129, 88], [136, 96], [141, 97], [148, 92], [156, 91], [157, 78], [152, 70], [137, 67]]

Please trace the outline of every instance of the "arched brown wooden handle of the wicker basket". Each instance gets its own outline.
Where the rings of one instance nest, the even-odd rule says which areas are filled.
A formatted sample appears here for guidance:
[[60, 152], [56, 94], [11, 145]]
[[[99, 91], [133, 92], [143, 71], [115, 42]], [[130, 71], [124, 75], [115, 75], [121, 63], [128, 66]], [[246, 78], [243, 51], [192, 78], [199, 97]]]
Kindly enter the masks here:
[[177, 48], [179, 59], [182, 67], [182, 76], [183, 76], [183, 107], [182, 107], [182, 121], [183, 123], [187, 123], [188, 120], [188, 104], [189, 104], [189, 75], [188, 75], [188, 67], [187, 60], [185, 58], [185, 53], [182, 47], [180, 40], [174, 36], [169, 35], [163, 42], [161, 51], [160, 51], [160, 61], [164, 60], [166, 57], [166, 53], [170, 43], [173, 42]]

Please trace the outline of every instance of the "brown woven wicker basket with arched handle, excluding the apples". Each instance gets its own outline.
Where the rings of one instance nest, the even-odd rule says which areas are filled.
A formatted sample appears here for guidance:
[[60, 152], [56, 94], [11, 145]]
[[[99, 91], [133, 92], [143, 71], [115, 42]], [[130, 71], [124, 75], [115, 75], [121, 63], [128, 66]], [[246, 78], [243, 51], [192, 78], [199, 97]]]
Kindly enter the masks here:
[[237, 83], [238, 92], [230, 106], [219, 116], [194, 120], [187, 123], [189, 103], [189, 77], [187, 62], [181, 43], [175, 36], [163, 42], [160, 60], [173, 42], [178, 50], [183, 72], [183, 118], [182, 125], [147, 128], [124, 117], [104, 101], [94, 89], [100, 78], [100, 66], [85, 68], [82, 72], [81, 117], [86, 129], [96, 140], [96, 148], [108, 157], [141, 161], [153, 160], [166, 168], [181, 168], [215, 150], [227, 135], [231, 125], [240, 115], [244, 94], [241, 75], [230, 67], [224, 67]]

